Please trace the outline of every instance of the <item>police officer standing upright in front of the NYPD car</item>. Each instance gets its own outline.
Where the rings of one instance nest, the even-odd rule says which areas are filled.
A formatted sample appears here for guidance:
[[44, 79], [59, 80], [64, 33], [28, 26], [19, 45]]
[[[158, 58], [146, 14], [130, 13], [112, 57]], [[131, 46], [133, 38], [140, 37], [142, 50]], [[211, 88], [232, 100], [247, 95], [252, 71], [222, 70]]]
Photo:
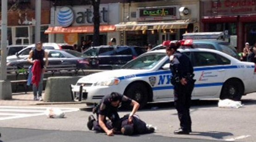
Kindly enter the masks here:
[[192, 131], [189, 108], [195, 80], [193, 80], [192, 63], [186, 55], [177, 51], [179, 46], [179, 42], [171, 42], [166, 47], [166, 54], [170, 57], [170, 69], [173, 74], [171, 83], [174, 86], [174, 105], [180, 121], [180, 128], [175, 130], [174, 134], [189, 134]]

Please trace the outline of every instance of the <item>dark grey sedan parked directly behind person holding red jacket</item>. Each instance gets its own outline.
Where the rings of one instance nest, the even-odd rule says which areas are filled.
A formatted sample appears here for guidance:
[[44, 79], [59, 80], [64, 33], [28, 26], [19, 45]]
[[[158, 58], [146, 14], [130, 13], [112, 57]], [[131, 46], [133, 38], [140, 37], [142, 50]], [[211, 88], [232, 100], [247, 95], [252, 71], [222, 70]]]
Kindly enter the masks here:
[[[78, 69], [90, 68], [90, 61], [85, 58], [82, 53], [74, 50], [54, 50], [46, 49], [48, 52], [49, 65], [66, 65], [76, 64]], [[19, 59], [16, 61], [9, 62], [8, 66], [17, 66], [18, 68], [24, 68], [24, 66], [31, 65], [26, 59]]]

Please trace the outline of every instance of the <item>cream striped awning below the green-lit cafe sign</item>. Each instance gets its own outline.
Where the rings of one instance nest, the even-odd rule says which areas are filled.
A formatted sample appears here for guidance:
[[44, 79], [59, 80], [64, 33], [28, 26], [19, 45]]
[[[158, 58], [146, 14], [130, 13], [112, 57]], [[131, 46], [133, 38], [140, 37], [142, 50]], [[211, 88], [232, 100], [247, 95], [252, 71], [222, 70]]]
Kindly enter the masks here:
[[126, 22], [115, 25], [116, 31], [160, 30], [160, 29], [186, 29], [187, 25], [195, 21], [176, 20], [165, 22]]

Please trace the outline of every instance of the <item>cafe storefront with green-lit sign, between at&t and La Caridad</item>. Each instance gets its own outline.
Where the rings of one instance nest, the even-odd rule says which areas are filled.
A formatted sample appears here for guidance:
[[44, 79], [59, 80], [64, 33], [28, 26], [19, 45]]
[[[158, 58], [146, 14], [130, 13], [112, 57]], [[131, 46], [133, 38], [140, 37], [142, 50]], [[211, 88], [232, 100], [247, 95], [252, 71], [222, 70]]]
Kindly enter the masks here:
[[197, 32], [199, 19], [199, 0], [131, 2], [123, 4], [122, 21], [115, 26], [120, 44], [146, 46]]

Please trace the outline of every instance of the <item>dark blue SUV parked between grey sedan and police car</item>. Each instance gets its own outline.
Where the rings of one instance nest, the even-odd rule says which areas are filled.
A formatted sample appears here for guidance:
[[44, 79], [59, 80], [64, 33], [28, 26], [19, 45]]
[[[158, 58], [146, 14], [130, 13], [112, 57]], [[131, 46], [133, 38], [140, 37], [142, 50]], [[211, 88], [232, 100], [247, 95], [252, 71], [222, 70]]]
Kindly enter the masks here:
[[90, 58], [92, 67], [97, 65], [101, 69], [115, 69], [144, 52], [145, 50], [138, 46], [102, 45], [87, 49], [83, 55]]

